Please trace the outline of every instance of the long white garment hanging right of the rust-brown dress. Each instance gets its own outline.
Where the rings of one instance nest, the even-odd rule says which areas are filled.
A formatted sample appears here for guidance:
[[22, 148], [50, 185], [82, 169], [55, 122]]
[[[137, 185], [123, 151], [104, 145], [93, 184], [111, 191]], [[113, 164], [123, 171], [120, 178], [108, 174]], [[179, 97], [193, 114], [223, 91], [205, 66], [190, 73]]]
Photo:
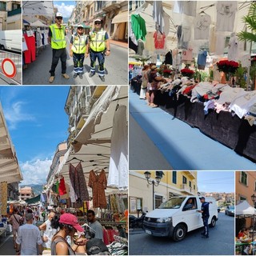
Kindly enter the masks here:
[[128, 126], [126, 106], [118, 106], [111, 134], [110, 169], [107, 184], [119, 190], [128, 188]]

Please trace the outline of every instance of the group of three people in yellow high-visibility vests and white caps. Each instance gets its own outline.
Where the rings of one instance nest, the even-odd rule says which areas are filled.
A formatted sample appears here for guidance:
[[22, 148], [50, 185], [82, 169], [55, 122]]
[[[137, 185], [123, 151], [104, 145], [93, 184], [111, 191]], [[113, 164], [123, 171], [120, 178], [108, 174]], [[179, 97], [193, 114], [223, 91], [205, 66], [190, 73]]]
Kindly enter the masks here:
[[[59, 59], [62, 62], [62, 77], [69, 79], [66, 74], [66, 26], [62, 24], [62, 14], [55, 15], [55, 23], [50, 25], [48, 42], [52, 48], [53, 57], [50, 67], [49, 82], [54, 82], [55, 70], [58, 66]], [[82, 79], [84, 74], [84, 59], [90, 56], [90, 74], [93, 77], [96, 73], [96, 61], [98, 59], [98, 76], [102, 82], [105, 82], [105, 57], [110, 55], [110, 40], [106, 30], [102, 28], [102, 20], [94, 20], [94, 29], [89, 34], [84, 33], [82, 24], [78, 24], [76, 32], [70, 38], [70, 57], [74, 62], [74, 76]]]

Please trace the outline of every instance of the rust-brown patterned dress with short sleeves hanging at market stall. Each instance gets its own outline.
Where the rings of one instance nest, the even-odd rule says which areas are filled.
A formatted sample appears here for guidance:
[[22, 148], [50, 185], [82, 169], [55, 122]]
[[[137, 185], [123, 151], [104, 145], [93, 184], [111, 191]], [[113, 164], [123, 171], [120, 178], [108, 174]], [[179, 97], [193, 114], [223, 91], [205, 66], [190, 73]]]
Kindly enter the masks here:
[[[127, 179], [127, 178], [126, 178]], [[106, 208], [106, 173], [105, 170], [102, 169], [100, 174], [96, 174], [94, 170], [90, 171], [89, 175], [89, 183], [93, 189], [93, 205], [94, 208], [101, 207], [102, 209]]]

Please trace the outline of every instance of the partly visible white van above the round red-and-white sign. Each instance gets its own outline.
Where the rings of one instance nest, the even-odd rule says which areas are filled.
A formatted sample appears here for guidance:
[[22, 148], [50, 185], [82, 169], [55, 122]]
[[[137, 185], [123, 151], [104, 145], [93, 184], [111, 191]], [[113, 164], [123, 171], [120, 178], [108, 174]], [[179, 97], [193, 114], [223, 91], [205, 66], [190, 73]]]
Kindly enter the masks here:
[[22, 30], [0, 31], [0, 50], [14, 50], [22, 53]]

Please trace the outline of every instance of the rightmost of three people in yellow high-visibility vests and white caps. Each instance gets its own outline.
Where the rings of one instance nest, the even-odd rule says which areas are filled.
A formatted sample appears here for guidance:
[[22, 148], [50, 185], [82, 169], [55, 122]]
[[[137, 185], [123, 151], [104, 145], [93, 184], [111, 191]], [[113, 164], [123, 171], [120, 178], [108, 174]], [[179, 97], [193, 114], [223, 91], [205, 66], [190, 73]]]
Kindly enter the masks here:
[[[95, 74], [95, 62], [98, 58], [98, 75], [102, 82], [105, 82], [105, 55], [110, 55], [110, 40], [109, 35], [105, 30], [101, 28], [102, 20], [96, 18], [94, 20], [94, 30], [90, 31], [88, 37], [88, 49], [90, 49], [90, 75], [91, 78]], [[86, 57], [88, 56], [88, 51], [86, 52]]]

